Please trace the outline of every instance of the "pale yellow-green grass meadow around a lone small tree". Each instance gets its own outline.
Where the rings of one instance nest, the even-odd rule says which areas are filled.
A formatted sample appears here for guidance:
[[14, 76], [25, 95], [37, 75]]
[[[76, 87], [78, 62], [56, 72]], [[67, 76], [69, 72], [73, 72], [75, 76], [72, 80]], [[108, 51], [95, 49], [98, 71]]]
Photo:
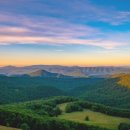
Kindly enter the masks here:
[[[112, 130], [116, 130], [118, 125], [122, 122], [130, 123], [130, 119], [128, 118], [109, 116], [91, 110], [84, 110], [82, 112], [65, 113], [64, 112], [65, 106], [66, 104], [59, 105], [60, 109], [63, 111], [62, 115], [59, 116], [60, 119], [86, 123], [89, 125], [101, 126], [105, 128], [110, 128]], [[86, 116], [89, 117], [89, 121], [85, 121]]]

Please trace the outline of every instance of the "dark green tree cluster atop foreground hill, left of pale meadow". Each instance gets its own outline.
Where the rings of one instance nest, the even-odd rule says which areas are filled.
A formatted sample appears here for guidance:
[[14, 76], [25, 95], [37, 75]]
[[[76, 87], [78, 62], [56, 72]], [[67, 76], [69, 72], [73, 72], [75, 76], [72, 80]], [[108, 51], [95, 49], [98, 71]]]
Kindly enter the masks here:
[[31, 109], [38, 115], [46, 116], [58, 116], [61, 114], [61, 110], [57, 107], [58, 104], [75, 101], [72, 97], [54, 97], [53, 99], [30, 102], [26, 104], [27, 109]]

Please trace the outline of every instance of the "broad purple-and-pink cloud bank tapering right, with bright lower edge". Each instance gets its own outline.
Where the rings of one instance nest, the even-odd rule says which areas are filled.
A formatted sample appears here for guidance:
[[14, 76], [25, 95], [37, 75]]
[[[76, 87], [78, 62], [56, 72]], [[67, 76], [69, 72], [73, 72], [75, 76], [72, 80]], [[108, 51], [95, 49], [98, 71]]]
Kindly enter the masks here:
[[[28, 17], [4, 15], [0, 22], [15, 22], [15, 26], [3, 25], [0, 28], [0, 45], [9, 44], [79, 44], [112, 49], [122, 43], [103, 40], [103, 33], [90, 26], [72, 24], [51, 17]], [[10, 22], [10, 23], [11, 23]]]

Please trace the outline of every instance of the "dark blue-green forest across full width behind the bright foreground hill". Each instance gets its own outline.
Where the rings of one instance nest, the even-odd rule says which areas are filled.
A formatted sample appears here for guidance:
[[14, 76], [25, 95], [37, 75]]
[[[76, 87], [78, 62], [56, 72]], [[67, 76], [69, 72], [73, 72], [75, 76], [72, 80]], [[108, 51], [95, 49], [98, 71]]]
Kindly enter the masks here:
[[0, 104], [68, 95], [108, 106], [130, 109], [130, 89], [126, 86], [130, 76], [122, 77], [125, 78], [0, 76]]

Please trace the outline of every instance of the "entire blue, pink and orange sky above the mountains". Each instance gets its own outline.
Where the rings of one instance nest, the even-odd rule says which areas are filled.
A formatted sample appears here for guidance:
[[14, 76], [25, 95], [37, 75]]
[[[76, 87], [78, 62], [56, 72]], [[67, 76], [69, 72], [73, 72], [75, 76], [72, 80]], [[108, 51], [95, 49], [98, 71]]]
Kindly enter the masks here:
[[130, 0], [0, 0], [0, 66], [130, 66]]

